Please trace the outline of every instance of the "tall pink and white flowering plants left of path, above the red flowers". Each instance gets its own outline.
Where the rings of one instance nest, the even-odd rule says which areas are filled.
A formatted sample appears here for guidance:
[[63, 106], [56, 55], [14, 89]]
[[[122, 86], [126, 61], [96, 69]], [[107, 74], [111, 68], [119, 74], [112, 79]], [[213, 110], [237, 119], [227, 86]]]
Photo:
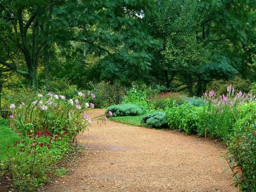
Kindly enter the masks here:
[[23, 135], [27, 132], [68, 132], [68, 136], [74, 139], [92, 120], [86, 112], [94, 108], [93, 103], [87, 102], [92, 98], [95, 98], [94, 94], [82, 92], [73, 99], [50, 92], [46, 95], [38, 94], [36, 99], [26, 104], [22, 102], [17, 108], [11, 104], [10, 118], [15, 120], [16, 129]]

